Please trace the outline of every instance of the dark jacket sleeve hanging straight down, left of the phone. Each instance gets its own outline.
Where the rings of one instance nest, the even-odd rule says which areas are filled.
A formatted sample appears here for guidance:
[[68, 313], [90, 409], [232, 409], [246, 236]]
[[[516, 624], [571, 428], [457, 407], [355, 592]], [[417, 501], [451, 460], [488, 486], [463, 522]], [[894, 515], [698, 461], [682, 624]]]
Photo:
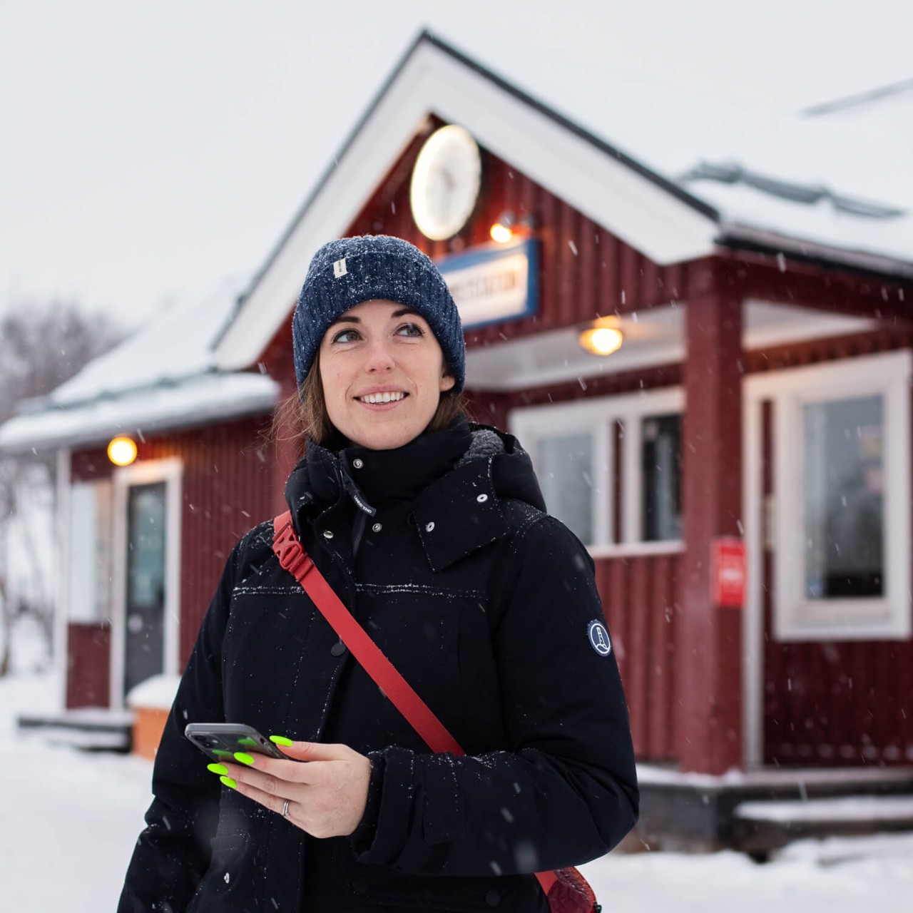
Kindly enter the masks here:
[[206, 770], [205, 755], [184, 738], [184, 726], [191, 720], [225, 719], [221, 653], [237, 552], [226, 562], [165, 723], [152, 770], [154, 798], [127, 869], [118, 913], [183, 911], [209, 866], [220, 784]]

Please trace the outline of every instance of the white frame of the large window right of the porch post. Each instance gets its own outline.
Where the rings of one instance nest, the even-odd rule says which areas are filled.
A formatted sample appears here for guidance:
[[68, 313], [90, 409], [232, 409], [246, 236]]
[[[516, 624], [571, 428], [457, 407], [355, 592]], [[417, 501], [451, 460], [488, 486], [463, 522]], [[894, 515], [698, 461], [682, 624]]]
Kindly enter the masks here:
[[[910, 376], [913, 353], [794, 368], [749, 378], [750, 408], [773, 407], [773, 636], [778, 641], [907, 640], [910, 612]], [[815, 599], [803, 593], [804, 434], [807, 404], [880, 395], [885, 423], [886, 593]], [[760, 429], [746, 446], [760, 447]]]

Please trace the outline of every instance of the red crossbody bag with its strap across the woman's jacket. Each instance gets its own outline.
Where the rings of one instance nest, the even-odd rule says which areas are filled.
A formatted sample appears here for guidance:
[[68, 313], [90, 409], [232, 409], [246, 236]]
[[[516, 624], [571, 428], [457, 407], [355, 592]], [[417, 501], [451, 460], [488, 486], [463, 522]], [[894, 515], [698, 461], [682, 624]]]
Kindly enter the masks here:
[[[393, 663], [383, 656], [361, 624], [352, 617], [336, 595], [326, 578], [314, 566], [304, 551], [291, 523], [287, 510], [273, 520], [273, 551], [282, 565], [301, 584], [320, 614], [340, 636], [343, 644], [390, 698], [396, 709], [425, 740], [432, 751], [449, 751], [462, 755], [456, 739], [437, 719], [425, 701], [415, 693], [409, 683], [396, 670]], [[537, 872], [536, 877], [549, 900], [551, 913], [601, 913], [593, 888], [575, 868], [559, 868], [553, 872]]]

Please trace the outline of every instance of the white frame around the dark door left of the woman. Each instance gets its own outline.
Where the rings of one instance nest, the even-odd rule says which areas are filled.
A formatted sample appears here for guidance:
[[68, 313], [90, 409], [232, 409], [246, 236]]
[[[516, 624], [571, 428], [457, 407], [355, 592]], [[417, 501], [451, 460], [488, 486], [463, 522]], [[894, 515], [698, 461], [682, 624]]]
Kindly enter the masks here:
[[124, 708], [123, 677], [127, 630], [128, 489], [165, 483], [165, 602], [163, 606], [163, 673], [177, 675], [181, 634], [181, 509], [184, 462], [176, 456], [144, 460], [115, 469], [113, 483], [113, 599], [111, 605], [110, 706]]

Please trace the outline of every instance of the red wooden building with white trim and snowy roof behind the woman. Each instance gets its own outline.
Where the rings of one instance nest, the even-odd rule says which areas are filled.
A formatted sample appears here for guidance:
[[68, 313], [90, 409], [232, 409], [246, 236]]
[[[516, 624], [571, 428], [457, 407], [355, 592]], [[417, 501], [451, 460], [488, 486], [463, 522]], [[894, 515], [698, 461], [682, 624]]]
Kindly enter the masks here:
[[[313, 251], [364, 233], [423, 247], [467, 325], [474, 415], [518, 434], [596, 560], [645, 782], [648, 763], [767, 785], [774, 768], [910, 782], [913, 150], [879, 132], [910, 87], [774, 122], [510, 66], [516, 83], [416, 41], [207, 338], [205, 376], [265, 372], [290, 394], [289, 317]], [[463, 130], [439, 132], [450, 124]], [[621, 348], [586, 351], [593, 329]], [[172, 480], [155, 546], [165, 671], [237, 534], [280, 502], [295, 455], [257, 438], [275, 397], [47, 436], [75, 496], [112, 486], [112, 554], [149, 479]], [[141, 438], [129, 469], [104, 454], [115, 430]], [[107, 608], [79, 620], [69, 593], [71, 707], [120, 706], [130, 682], [143, 629], [124, 592], [145, 584], [110, 560]]]

